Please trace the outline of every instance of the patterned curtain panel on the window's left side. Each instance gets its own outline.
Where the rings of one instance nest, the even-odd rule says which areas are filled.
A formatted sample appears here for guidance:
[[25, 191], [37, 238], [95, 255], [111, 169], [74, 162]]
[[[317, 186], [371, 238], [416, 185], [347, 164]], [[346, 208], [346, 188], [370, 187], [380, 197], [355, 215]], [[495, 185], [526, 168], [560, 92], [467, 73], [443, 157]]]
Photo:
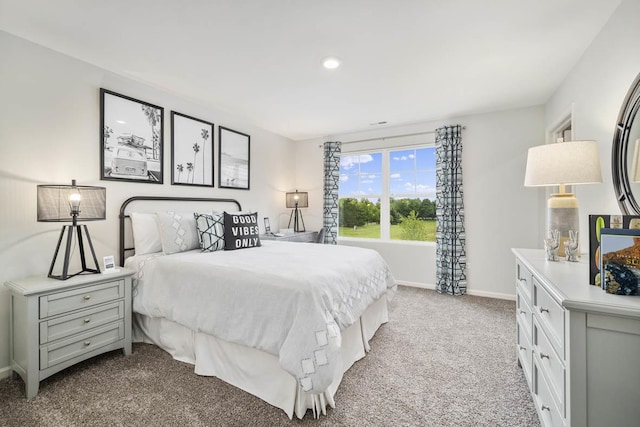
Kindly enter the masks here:
[[342, 143], [324, 143], [324, 243], [338, 244], [338, 186]]

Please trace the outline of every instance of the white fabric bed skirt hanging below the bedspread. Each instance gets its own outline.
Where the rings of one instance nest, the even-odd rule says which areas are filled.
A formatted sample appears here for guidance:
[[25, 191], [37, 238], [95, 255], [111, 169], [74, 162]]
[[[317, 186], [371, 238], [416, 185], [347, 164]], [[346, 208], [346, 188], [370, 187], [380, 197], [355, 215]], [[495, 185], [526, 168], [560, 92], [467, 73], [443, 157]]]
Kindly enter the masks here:
[[342, 369], [323, 393], [304, 393], [296, 379], [280, 367], [278, 357], [261, 350], [221, 340], [172, 322], [134, 313], [136, 342], [155, 344], [181, 362], [195, 366], [198, 375], [214, 376], [282, 409], [289, 419], [304, 417], [311, 409], [315, 417], [335, 408], [334, 396], [342, 375], [370, 350], [369, 340], [388, 321], [387, 297], [371, 304], [359, 322], [342, 331]]

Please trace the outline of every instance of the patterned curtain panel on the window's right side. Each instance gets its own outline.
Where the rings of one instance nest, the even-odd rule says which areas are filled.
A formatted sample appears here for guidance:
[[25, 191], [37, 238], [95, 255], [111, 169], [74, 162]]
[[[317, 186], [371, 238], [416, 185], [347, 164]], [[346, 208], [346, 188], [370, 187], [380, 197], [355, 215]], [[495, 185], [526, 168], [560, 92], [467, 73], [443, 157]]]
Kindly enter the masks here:
[[450, 295], [467, 291], [461, 130], [436, 129], [436, 291]]

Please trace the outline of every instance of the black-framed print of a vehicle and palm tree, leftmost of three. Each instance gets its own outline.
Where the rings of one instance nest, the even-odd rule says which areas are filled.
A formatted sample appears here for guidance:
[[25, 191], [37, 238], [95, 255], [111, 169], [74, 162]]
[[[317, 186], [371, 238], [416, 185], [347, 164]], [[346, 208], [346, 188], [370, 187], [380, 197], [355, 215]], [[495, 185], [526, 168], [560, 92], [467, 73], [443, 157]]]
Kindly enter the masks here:
[[100, 179], [162, 184], [164, 108], [100, 89]]

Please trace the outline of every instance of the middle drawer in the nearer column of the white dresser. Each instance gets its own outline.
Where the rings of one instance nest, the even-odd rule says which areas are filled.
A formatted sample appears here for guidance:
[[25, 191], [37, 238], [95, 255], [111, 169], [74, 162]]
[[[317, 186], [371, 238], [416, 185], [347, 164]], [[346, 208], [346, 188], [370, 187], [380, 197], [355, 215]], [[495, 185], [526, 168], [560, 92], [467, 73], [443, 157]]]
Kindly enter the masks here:
[[565, 368], [564, 363], [542, 331], [538, 319], [533, 319], [533, 353], [538, 366], [545, 372], [549, 388], [562, 415], [565, 413]]

